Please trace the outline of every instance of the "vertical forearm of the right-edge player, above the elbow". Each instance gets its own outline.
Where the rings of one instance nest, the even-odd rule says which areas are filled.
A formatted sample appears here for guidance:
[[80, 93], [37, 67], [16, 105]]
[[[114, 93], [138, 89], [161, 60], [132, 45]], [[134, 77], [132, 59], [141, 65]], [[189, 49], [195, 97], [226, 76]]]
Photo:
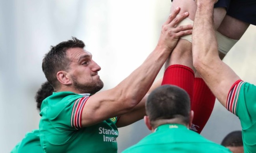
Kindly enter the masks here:
[[217, 40], [213, 27], [213, 2], [199, 1], [193, 26], [193, 62], [197, 69], [202, 62], [210, 62], [217, 54]]

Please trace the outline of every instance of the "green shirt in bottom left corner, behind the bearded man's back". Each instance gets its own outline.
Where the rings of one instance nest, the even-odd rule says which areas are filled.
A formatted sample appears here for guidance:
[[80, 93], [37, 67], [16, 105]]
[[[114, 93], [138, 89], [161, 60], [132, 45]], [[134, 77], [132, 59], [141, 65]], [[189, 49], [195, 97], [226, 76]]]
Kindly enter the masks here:
[[11, 153], [43, 153], [40, 145], [39, 130], [35, 129], [27, 133], [15, 148], [13, 148]]

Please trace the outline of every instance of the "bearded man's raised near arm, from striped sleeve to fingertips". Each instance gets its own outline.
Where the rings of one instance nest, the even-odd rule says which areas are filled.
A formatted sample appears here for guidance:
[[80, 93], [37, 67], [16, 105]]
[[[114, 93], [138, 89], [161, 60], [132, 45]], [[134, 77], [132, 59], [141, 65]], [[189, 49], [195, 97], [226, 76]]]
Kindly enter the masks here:
[[82, 111], [82, 126], [91, 126], [130, 112], [145, 96], [180, 36], [191, 34], [192, 26], [175, 27], [186, 14], [176, 9], [162, 27], [158, 45], [141, 66], [113, 89], [91, 96]]

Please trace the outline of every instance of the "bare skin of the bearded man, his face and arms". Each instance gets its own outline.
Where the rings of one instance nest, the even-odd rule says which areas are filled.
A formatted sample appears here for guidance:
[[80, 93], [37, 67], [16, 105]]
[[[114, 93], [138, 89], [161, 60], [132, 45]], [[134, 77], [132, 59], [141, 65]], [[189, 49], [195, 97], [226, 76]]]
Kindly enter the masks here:
[[[141, 66], [135, 69], [116, 87], [95, 93], [88, 98], [82, 110], [83, 127], [92, 126], [108, 118], [117, 116], [121, 117], [116, 125], [121, 127], [129, 125], [143, 117], [138, 111], [142, 106], [143, 109], [145, 109], [143, 102], [140, 103], [141, 100], [145, 97], [156, 75], [167, 60], [171, 51], [173, 51], [179, 37], [192, 33], [191, 25], [175, 26], [188, 16], [188, 13], [183, 13], [181, 16], [176, 17], [179, 11], [180, 8], [174, 10], [163, 24], [158, 45]], [[82, 93], [81, 89], [79, 90], [74, 86], [77, 82], [84, 86], [100, 86], [101, 81], [98, 75], [100, 67], [93, 61], [91, 53], [81, 48], [71, 48], [67, 50], [67, 56], [71, 64], [67, 71], [59, 71], [57, 73], [57, 78], [60, 83], [58, 91]], [[83, 59], [83, 57], [86, 58]], [[145, 111], [142, 113], [145, 114]], [[137, 118], [134, 116], [137, 116]], [[131, 119], [127, 120], [127, 118]]]

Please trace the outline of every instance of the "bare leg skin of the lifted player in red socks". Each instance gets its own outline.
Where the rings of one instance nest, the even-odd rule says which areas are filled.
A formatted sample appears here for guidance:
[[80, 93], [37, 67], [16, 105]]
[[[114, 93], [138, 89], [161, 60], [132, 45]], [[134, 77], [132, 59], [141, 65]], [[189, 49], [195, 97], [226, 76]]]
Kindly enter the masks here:
[[[195, 19], [197, 4], [194, 0], [173, 0], [171, 11], [176, 7], [181, 7], [180, 13], [184, 13], [186, 11], [189, 12], [189, 19]], [[235, 40], [239, 40], [250, 25], [226, 15], [226, 9], [223, 7], [214, 8], [213, 20], [215, 30], [219, 31], [224, 36]], [[219, 56], [222, 60], [225, 54], [219, 52]], [[178, 41], [178, 44], [174, 48], [172, 55], [167, 60], [165, 67], [167, 68], [173, 64], [190, 67], [195, 72], [195, 77], [201, 77], [193, 67], [192, 44], [188, 40], [180, 39]]]

